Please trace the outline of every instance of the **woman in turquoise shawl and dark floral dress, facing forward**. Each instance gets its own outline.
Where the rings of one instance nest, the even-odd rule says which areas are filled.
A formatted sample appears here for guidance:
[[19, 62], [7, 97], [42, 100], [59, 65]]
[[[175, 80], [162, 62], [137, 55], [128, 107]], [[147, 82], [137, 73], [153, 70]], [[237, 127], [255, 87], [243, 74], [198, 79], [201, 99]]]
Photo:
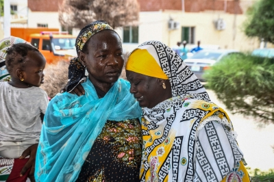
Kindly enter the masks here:
[[[119, 79], [121, 39], [108, 23], [95, 21], [80, 31], [75, 47], [68, 92], [56, 95], [45, 114], [36, 181], [139, 181], [141, 109]], [[84, 75], [85, 94], [71, 93]]]

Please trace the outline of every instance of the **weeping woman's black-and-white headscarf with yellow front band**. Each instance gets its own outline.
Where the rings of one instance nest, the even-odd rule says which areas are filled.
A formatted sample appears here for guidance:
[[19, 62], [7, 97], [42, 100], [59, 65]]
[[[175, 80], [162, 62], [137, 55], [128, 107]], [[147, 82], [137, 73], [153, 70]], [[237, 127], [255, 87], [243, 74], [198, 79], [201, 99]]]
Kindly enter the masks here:
[[210, 101], [196, 75], [175, 51], [162, 42], [148, 41], [140, 44], [129, 55], [125, 69], [150, 77], [169, 79], [173, 96], [193, 94], [197, 99]]

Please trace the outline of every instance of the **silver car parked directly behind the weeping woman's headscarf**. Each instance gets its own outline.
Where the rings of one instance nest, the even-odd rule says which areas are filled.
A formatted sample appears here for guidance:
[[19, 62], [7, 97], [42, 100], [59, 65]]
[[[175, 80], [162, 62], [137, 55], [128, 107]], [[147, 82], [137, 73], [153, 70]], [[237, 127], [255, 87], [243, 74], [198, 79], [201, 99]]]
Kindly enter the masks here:
[[227, 55], [238, 54], [240, 52], [229, 49], [201, 50], [195, 53], [190, 59], [184, 60], [186, 65], [192, 70], [200, 81], [206, 81], [203, 78], [205, 70], [210, 68], [216, 62], [219, 62]]

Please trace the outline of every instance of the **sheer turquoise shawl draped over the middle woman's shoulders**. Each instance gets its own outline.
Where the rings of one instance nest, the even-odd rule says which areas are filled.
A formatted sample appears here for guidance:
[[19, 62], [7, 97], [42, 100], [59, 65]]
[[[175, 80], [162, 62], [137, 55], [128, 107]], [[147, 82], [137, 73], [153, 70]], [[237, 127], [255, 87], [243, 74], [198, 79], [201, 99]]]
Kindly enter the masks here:
[[65, 92], [49, 102], [36, 154], [36, 181], [75, 181], [107, 120], [141, 116], [128, 81], [119, 79], [101, 99], [89, 80], [82, 86], [82, 96]]

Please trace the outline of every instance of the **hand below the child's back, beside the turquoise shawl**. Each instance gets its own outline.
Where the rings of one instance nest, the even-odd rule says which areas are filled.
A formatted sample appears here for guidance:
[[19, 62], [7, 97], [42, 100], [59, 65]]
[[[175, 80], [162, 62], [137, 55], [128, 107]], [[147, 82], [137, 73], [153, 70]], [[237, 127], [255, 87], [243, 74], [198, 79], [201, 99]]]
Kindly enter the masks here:
[[32, 146], [29, 146], [29, 148], [27, 148], [27, 149], [25, 149], [25, 151], [23, 151], [21, 157], [19, 158], [19, 159], [25, 159], [25, 157], [29, 156], [29, 160], [27, 161], [27, 163], [21, 170], [20, 176], [23, 176], [23, 174], [25, 174], [25, 172], [27, 172], [27, 170], [29, 168], [31, 168], [28, 177], [29, 177], [30, 181], [32, 181], [32, 182], [35, 182], [34, 168], [35, 168], [35, 158], [36, 158], [37, 147], [38, 147], [38, 144], [33, 144]]

